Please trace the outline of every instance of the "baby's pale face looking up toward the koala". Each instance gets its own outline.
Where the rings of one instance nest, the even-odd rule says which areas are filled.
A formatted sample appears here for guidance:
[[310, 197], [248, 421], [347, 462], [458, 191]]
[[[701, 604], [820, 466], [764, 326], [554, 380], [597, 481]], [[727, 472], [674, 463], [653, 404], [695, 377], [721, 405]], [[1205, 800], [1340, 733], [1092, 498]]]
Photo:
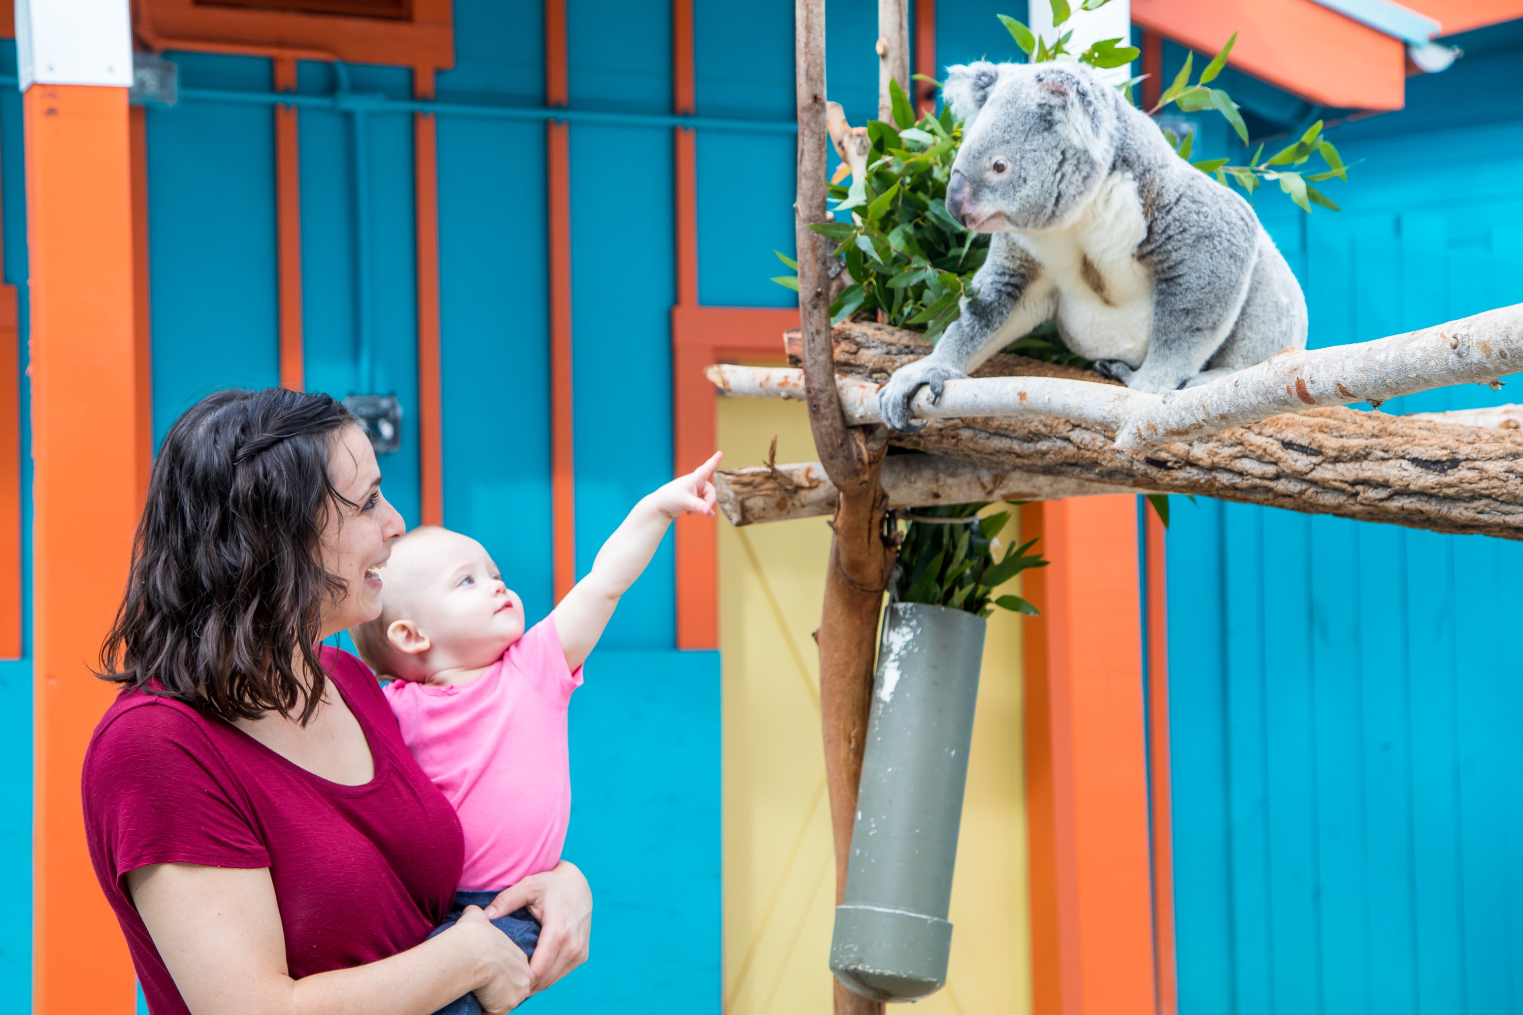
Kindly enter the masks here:
[[429, 641], [431, 673], [487, 667], [524, 633], [524, 603], [469, 536], [414, 533], [396, 545], [384, 577], [387, 616], [413, 621]]

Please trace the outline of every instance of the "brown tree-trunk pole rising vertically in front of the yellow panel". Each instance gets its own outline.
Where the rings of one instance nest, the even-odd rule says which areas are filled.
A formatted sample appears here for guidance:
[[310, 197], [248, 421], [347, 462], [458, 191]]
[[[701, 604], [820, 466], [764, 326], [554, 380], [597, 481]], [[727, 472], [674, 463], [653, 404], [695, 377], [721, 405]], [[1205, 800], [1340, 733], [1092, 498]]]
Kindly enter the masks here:
[[[819, 712], [825, 785], [836, 849], [836, 902], [845, 890], [856, 817], [857, 782], [873, 694], [877, 615], [894, 568], [883, 542], [888, 496], [880, 473], [888, 434], [882, 426], [847, 426], [835, 385], [830, 339], [832, 245], [809, 228], [827, 222], [825, 207], [825, 3], [797, 0], [793, 43], [798, 102], [798, 312], [804, 339], [809, 425], [825, 475], [841, 490], [832, 520], [830, 565], [819, 622]], [[835, 985], [838, 1015], [880, 1015], [883, 1006]]]

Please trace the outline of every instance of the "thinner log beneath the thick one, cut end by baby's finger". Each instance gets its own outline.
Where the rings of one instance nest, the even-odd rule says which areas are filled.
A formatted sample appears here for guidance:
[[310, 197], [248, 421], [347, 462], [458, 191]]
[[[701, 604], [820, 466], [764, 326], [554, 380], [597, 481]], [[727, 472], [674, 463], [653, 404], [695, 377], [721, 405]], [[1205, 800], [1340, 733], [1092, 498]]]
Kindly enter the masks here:
[[[819, 517], [836, 510], [836, 487], [818, 461], [726, 469], [714, 473], [714, 487], [719, 490], [719, 510], [731, 525]], [[943, 455], [889, 455], [883, 460], [883, 492], [891, 508], [1138, 493], [1130, 487], [990, 469]]]

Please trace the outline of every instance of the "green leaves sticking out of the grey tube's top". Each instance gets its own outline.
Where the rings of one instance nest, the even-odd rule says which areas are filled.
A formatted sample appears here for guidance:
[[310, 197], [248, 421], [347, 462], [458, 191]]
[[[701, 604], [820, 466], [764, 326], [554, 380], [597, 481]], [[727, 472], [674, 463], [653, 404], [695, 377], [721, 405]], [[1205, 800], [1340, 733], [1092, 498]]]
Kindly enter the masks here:
[[1037, 609], [1019, 595], [990, 598], [999, 586], [1028, 568], [1046, 568], [1042, 554], [1027, 551], [1037, 540], [1007, 545], [996, 560], [995, 536], [1010, 520], [1010, 511], [976, 517], [987, 504], [950, 504], [917, 508], [915, 516], [967, 519], [963, 523], [917, 522], [905, 525], [894, 572], [894, 595], [900, 603], [929, 603], [952, 610], [988, 616], [995, 607], [1036, 616]]

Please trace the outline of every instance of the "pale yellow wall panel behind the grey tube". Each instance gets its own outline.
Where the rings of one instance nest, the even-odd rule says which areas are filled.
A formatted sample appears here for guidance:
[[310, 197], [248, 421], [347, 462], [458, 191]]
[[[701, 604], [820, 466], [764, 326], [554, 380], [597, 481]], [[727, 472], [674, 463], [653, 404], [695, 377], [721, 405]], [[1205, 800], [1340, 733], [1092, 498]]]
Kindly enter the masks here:
[[[801, 403], [719, 400], [726, 467], [812, 461]], [[1013, 531], [1010, 533], [1014, 534]], [[819, 625], [830, 528], [720, 522], [719, 645], [725, 723], [725, 1010], [830, 1012], [835, 878], [819, 746]], [[990, 618], [952, 887], [947, 986], [926, 1015], [1031, 1010], [1020, 624]]]

